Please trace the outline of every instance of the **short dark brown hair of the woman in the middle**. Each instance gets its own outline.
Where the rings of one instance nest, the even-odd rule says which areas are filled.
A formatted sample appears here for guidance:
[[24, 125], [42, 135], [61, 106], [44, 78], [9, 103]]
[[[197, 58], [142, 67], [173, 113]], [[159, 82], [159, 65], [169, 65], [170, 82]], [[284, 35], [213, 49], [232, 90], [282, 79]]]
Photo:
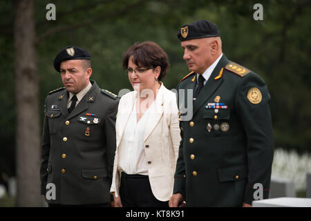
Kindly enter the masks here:
[[126, 70], [129, 65], [129, 58], [133, 56], [133, 63], [139, 67], [153, 67], [160, 66], [161, 72], [158, 81], [164, 79], [169, 70], [169, 58], [158, 44], [153, 41], [144, 41], [142, 43], [135, 43], [131, 46], [123, 56], [123, 68]]

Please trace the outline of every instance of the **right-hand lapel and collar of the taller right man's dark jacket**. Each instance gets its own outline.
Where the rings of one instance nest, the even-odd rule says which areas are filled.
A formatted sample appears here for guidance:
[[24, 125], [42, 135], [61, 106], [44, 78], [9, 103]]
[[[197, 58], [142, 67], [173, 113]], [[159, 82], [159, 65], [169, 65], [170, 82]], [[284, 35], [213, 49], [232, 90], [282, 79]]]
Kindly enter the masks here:
[[225, 55], [223, 55], [216, 68], [213, 70], [213, 73], [211, 73], [211, 76], [207, 80], [205, 86], [200, 91], [196, 101], [194, 101], [194, 115], [199, 110], [200, 106], [202, 106], [202, 104], [204, 104], [207, 99], [213, 95], [214, 91], [220, 86], [220, 84], [223, 83], [223, 78], [218, 80], [215, 80], [214, 78], [219, 74], [221, 68], [223, 68], [228, 62], [228, 59], [225, 57]]

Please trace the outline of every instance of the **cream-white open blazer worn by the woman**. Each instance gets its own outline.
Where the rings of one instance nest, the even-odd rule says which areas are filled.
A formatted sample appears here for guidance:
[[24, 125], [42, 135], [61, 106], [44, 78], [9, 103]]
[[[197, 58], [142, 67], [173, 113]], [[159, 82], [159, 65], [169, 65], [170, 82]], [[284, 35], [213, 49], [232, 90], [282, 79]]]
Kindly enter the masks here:
[[[115, 122], [117, 148], [110, 190], [116, 197], [119, 195], [122, 172], [117, 170], [119, 145], [126, 123], [133, 111], [136, 96], [135, 90], [123, 95], [117, 110]], [[155, 111], [149, 113], [144, 133], [144, 153], [147, 161], [151, 162], [147, 164], [151, 191], [158, 200], [167, 201], [173, 194], [174, 173], [181, 140], [176, 94], [162, 84], [154, 102]]]

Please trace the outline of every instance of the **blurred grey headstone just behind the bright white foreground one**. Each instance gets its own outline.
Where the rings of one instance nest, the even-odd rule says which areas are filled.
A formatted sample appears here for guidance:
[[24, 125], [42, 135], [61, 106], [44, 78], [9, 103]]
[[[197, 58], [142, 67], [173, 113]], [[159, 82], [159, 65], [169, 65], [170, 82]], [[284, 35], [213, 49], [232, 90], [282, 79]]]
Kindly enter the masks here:
[[284, 197], [296, 197], [294, 182], [283, 177], [271, 177], [269, 198]]

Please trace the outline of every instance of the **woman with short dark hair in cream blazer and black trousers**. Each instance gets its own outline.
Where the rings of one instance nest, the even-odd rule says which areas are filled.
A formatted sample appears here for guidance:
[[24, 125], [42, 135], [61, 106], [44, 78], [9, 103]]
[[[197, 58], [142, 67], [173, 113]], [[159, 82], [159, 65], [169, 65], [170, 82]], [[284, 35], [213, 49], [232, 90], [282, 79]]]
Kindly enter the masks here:
[[176, 95], [161, 80], [167, 53], [152, 41], [123, 57], [134, 90], [120, 99], [111, 193], [115, 206], [168, 206], [173, 193], [180, 128]]

